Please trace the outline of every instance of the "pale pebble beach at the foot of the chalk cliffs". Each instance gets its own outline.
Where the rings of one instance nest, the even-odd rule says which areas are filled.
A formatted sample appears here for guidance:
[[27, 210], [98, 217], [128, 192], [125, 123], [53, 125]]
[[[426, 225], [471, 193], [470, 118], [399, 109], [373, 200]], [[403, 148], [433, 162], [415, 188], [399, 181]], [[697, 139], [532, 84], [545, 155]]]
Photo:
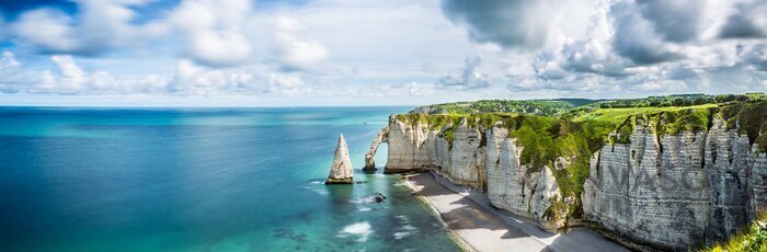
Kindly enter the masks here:
[[[443, 181], [444, 180], [444, 181]], [[585, 228], [550, 233], [492, 207], [484, 193], [451, 184], [433, 171], [405, 175], [459, 245], [473, 251], [629, 251]]]

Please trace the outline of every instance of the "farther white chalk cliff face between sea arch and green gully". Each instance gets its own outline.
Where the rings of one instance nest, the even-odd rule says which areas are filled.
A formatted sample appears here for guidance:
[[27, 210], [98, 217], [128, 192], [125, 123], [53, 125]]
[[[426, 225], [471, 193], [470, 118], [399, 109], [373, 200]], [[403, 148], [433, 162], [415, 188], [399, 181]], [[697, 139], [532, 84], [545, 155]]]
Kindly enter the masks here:
[[[519, 163], [523, 147], [507, 137], [508, 129], [469, 125], [463, 118], [455, 127], [448, 123], [435, 128], [425, 122], [390, 117], [388, 138], [382, 140], [389, 144], [385, 173], [435, 170], [453, 183], [486, 187], [495, 207], [541, 228], [557, 231], [564, 227], [562, 210], [550, 210], [562, 199], [552, 170], [545, 167], [528, 173], [528, 167]], [[448, 128], [451, 139], [446, 136]]]

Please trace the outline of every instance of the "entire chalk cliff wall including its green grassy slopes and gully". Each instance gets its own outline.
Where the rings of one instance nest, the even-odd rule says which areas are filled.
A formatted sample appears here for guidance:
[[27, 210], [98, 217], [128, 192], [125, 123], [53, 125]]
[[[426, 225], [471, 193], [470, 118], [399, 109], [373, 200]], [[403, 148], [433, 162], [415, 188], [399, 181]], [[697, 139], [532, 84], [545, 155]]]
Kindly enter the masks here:
[[388, 128], [386, 172], [435, 170], [551, 231], [573, 219], [640, 249], [687, 250], [726, 240], [767, 210], [765, 100], [407, 114]]

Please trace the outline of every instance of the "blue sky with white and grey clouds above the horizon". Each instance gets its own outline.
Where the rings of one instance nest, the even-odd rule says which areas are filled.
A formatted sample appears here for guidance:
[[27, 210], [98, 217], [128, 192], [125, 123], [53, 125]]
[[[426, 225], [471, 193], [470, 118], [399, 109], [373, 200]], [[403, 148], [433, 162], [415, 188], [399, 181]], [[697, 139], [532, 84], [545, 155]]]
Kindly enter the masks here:
[[0, 105], [764, 91], [764, 0], [0, 0]]

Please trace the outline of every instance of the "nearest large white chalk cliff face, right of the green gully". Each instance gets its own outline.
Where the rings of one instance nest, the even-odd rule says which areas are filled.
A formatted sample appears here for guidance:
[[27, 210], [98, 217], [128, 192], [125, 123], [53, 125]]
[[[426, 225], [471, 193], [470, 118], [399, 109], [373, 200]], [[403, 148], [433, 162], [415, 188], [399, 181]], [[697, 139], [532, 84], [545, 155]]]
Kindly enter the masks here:
[[592, 157], [585, 218], [654, 247], [686, 250], [737, 233], [765, 207], [765, 154], [714, 119], [706, 131], [659, 137], [637, 126], [630, 144]]

